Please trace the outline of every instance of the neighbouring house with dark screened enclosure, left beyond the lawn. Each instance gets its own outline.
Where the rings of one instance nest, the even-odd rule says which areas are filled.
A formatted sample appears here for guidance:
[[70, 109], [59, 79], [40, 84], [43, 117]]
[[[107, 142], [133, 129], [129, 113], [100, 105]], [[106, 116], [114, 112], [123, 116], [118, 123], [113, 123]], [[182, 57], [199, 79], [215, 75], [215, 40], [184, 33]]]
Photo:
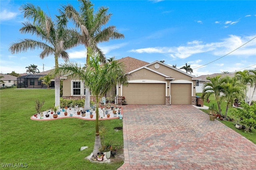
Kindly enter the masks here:
[[[47, 85], [42, 83], [42, 80], [38, 80], [40, 77], [47, 75], [49, 72], [54, 71], [48, 70], [44, 72], [39, 72], [36, 74], [26, 74], [24, 76], [20, 76], [17, 79], [17, 88], [47, 88]], [[54, 79], [52, 79], [50, 88], [54, 88]]]

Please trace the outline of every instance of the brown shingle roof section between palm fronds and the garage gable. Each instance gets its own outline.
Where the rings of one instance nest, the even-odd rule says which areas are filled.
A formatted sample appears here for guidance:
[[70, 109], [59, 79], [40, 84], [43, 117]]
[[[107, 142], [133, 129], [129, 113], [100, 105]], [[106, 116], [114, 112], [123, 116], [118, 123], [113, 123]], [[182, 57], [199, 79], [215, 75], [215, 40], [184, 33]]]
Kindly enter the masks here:
[[146, 61], [141, 61], [132, 57], [124, 57], [122, 59], [118, 59], [118, 62], [124, 63], [126, 73], [149, 64]]

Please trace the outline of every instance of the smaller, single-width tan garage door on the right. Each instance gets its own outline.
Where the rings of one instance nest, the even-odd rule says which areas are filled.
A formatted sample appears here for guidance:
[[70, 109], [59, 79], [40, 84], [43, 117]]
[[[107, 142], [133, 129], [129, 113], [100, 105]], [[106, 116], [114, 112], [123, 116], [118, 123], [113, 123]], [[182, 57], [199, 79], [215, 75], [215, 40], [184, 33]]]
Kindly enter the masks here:
[[191, 84], [171, 84], [171, 104], [191, 104]]

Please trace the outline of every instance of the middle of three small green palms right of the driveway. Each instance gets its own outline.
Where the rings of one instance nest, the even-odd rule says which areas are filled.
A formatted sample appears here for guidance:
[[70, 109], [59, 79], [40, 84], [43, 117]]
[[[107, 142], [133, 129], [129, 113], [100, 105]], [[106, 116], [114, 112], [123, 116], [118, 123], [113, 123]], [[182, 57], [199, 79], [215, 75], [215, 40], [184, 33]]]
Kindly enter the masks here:
[[234, 104], [234, 100], [240, 100], [244, 98], [244, 89], [246, 88], [246, 86], [238, 82], [235, 77], [230, 78], [227, 76], [223, 78], [222, 81], [222, 96], [220, 97], [220, 100], [227, 102], [224, 115], [224, 117], [226, 118], [228, 113], [228, 107]]

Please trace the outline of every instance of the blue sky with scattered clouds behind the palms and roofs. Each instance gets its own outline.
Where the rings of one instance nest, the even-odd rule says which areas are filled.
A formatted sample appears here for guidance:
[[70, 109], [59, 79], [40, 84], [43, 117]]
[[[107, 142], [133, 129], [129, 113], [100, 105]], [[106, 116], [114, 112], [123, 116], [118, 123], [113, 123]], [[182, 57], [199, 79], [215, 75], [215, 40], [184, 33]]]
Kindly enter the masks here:
[[[70, 3], [79, 10], [76, 0], [1, 0], [0, 71], [3, 74], [24, 73], [30, 64], [37, 65], [41, 72], [43, 64], [44, 71], [54, 68], [54, 56], [42, 60], [41, 50], [19, 54], [8, 51], [10, 44], [18, 39], [38, 39], [19, 31], [26, 20], [18, 9], [26, 2], [40, 6], [52, 18], [58, 15], [60, 5]], [[176, 64], [177, 68], [188, 63], [195, 76], [256, 68], [256, 1], [97, 0], [92, 3], [94, 10], [109, 7], [108, 12], [112, 13], [109, 24], [125, 36], [98, 44], [106, 58], [129, 56], [148, 63], [164, 60], [166, 64]], [[86, 62], [84, 46], [68, 53], [70, 61]], [[64, 61], [60, 59], [59, 63]]]

